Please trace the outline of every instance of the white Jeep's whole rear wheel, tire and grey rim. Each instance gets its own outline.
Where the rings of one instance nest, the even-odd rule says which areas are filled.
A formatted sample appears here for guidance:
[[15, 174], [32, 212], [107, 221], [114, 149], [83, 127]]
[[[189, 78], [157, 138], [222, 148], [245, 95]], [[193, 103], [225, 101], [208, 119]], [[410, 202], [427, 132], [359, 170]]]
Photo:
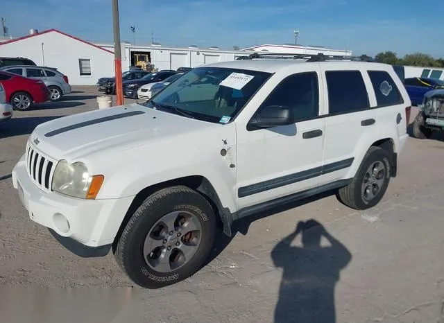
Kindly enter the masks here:
[[352, 182], [338, 191], [338, 199], [352, 209], [370, 209], [384, 197], [391, 177], [390, 157], [380, 147], [370, 147]]

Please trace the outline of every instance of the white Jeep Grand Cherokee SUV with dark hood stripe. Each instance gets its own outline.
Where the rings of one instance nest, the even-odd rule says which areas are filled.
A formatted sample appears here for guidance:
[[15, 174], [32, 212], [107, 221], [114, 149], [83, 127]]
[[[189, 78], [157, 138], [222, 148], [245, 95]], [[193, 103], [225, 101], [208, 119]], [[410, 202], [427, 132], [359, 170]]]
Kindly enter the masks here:
[[336, 189], [375, 206], [411, 101], [391, 65], [250, 59], [192, 69], [151, 101], [35, 128], [12, 172], [31, 220], [79, 256], [112, 248], [139, 286], [194, 274], [218, 223]]

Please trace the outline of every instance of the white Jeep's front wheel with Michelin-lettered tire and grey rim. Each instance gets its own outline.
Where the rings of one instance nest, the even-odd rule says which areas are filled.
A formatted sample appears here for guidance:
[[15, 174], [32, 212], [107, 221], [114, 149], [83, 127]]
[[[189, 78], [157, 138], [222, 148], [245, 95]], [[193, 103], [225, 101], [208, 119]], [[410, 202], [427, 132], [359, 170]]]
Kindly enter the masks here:
[[173, 186], [149, 196], [135, 211], [114, 255], [137, 285], [162, 288], [200, 269], [215, 230], [210, 203], [196, 191]]

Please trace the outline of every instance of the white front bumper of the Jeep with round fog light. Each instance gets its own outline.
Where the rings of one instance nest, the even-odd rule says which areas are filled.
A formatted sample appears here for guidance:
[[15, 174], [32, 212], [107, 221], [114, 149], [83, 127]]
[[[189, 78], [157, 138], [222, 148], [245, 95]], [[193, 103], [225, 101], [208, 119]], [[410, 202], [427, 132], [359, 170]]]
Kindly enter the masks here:
[[108, 253], [133, 201], [133, 197], [83, 200], [45, 193], [28, 176], [24, 156], [12, 170], [12, 185], [31, 220], [49, 228], [62, 245], [79, 256]]

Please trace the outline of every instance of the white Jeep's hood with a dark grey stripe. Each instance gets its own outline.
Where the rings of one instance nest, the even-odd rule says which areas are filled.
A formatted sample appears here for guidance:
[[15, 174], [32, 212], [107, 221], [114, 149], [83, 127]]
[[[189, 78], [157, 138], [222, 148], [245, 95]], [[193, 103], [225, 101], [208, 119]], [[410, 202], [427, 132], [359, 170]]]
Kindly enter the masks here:
[[73, 162], [218, 126], [132, 104], [42, 123], [30, 141], [49, 157]]

